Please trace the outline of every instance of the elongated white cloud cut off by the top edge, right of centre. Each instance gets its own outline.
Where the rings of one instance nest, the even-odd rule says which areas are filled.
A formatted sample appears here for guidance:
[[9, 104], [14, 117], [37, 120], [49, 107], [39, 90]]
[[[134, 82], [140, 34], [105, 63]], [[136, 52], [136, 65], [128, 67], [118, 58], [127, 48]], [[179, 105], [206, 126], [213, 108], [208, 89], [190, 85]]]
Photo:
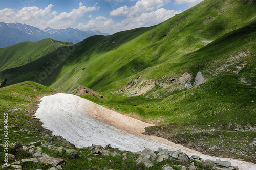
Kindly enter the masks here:
[[110, 12], [110, 16], [135, 16], [144, 12], [154, 11], [168, 3], [171, 0], [139, 0], [132, 7], [122, 6]]

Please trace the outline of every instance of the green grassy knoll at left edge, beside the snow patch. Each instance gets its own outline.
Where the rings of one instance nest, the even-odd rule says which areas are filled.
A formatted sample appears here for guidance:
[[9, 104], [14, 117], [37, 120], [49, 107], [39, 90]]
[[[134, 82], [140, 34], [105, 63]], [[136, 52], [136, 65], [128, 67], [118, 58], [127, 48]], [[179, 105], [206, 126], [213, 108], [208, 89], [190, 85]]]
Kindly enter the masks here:
[[[35, 113], [40, 97], [56, 92], [56, 90], [31, 81], [0, 89], [0, 113], [2, 115], [0, 120], [4, 122], [4, 114], [7, 113], [8, 126], [16, 126], [8, 128], [10, 142], [16, 142], [18, 139], [23, 144], [38, 140], [37, 135], [42, 128], [32, 115]], [[36, 125], [31, 125], [31, 122]], [[4, 138], [4, 133], [1, 133], [1, 136]]]

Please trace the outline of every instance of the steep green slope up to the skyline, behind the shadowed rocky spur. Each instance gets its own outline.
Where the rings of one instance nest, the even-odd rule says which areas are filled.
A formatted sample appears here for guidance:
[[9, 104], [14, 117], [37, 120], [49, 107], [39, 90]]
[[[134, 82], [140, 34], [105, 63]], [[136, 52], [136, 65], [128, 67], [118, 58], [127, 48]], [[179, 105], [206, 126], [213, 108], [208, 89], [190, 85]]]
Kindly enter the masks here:
[[[93, 36], [72, 49], [62, 48], [35, 63], [2, 72], [1, 78], [9, 78], [7, 84], [35, 80], [64, 91], [71, 91], [80, 84], [98, 91], [111, 88], [118, 91], [140, 74], [143, 75], [139, 82], [163, 77], [167, 80], [187, 71], [195, 77], [198, 70], [191, 70], [193, 65], [185, 64], [190, 62], [186, 54], [254, 22], [256, 7], [248, 3], [203, 1], [158, 26]], [[235, 50], [226, 54], [233, 52]], [[208, 61], [219, 57], [208, 58]], [[54, 67], [49, 65], [53, 61]], [[199, 63], [198, 60], [194, 64]], [[50, 74], [51, 70], [54, 75]], [[12, 72], [15, 75], [11, 76]], [[22, 76], [18, 76], [19, 73]]]

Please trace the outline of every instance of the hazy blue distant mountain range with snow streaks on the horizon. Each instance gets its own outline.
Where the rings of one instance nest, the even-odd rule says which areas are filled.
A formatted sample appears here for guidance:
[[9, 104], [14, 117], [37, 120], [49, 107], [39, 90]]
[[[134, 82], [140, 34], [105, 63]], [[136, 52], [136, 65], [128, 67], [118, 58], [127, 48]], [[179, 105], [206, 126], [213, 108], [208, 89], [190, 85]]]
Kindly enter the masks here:
[[24, 41], [39, 41], [52, 38], [57, 41], [78, 43], [92, 35], [110, 35], [100, 31], [81, 31], [79, 29], [52, 29], [50, 27], [40, 30], [21, 23], [0, 22], [0, 48], [8, 47]]

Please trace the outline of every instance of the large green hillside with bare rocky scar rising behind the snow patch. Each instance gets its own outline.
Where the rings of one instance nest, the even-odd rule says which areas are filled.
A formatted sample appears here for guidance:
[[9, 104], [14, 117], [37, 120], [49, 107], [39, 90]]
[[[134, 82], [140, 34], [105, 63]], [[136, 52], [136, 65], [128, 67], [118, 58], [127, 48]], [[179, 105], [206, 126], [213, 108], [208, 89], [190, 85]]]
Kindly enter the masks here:
[[255, 163], [255, 11], [252, 1], [205, 0], [157, 26], [60, 47], [0, 80], [83, 85], [104, 95], [84, 98], [158, 124], [149, 134]]

